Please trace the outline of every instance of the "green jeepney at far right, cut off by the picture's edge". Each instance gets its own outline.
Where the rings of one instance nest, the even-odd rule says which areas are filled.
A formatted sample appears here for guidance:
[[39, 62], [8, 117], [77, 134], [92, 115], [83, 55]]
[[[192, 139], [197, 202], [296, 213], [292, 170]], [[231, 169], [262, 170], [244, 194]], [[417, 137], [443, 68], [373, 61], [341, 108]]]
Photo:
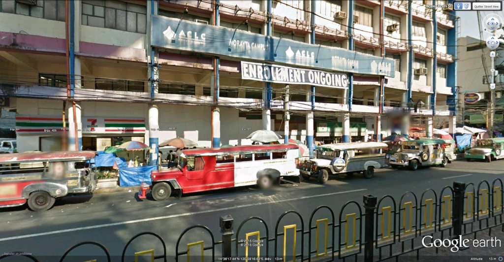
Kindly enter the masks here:
[[487, 162], [492, 160], [504, 158], [504, 153], [502, 153], [504, 144], [504, 138], [489, 138], [489, 139], [479, 139], [476, 141], [474, 148], [466, 151], [464, 155], [467, 161], [472, 161], [472, 159], [482, 159]]

